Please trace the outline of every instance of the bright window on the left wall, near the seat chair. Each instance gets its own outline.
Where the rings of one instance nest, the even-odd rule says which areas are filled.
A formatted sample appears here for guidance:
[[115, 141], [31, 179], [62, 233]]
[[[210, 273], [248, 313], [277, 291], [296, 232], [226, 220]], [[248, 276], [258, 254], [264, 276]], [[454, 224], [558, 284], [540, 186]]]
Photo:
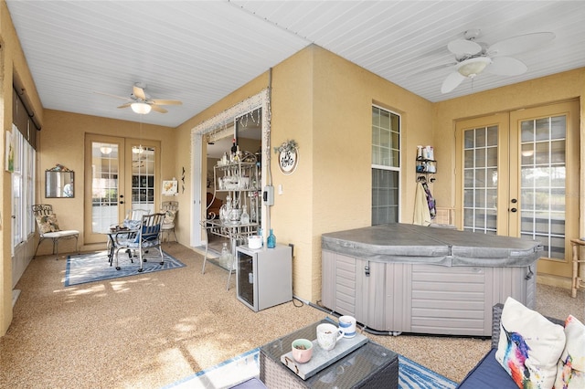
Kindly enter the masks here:
[[14, 248], [35, 232], [32, 208], [35, 194], [35, 150], [16, 128], [12, 127], [15, 144], [14, 173], [12, 173], [12, 243]]

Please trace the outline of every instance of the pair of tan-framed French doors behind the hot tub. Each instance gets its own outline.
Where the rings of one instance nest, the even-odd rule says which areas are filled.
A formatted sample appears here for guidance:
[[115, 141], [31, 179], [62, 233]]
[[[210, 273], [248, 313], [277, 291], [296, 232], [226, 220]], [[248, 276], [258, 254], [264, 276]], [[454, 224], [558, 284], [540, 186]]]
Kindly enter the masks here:
[[498, 113], [456, 124], [457, 225], [536, 239], [540, 273], [570, 277], [579, 237], [579, 103]]

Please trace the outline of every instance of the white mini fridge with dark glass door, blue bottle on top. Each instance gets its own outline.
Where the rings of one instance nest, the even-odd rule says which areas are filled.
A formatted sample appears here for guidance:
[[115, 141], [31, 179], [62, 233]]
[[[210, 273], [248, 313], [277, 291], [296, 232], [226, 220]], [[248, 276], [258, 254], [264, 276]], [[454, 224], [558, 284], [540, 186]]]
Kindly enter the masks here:
[[259, 311], [293, 300], [293, 248], [236, 249], [238, 300]]

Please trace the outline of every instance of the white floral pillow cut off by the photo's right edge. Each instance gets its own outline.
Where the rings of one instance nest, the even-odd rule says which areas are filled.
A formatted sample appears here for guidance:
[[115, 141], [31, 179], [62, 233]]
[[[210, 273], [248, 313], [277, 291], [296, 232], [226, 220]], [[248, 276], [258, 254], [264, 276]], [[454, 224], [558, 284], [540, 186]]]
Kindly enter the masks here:
[[585, 325], [569, 315], [565, 335], [567, 342], [558, 360], [555, 389], [585, 388]]

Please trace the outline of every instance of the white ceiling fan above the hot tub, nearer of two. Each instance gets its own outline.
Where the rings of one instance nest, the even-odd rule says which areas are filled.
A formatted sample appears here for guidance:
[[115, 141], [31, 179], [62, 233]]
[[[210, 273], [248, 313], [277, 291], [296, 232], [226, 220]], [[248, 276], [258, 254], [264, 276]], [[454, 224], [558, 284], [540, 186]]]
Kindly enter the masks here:
[[[442, 82], [441, 93], [449, 93], [457, 88], [464, 79], [474, 79], [482, 72], [496, 76], [518, 76], [527, 71], [527, 66], [519, 59], [508, 57], [542, 46], [555, 38], [551, 32], [509, 37], [488, 46], [476, 42], [479, 29], [465, 31], [463, 38], [449, 42], [447, 48], [455, 55], [456, 62], [452, 73]], [[441, 67], [442, 68], [442, 67]]]

